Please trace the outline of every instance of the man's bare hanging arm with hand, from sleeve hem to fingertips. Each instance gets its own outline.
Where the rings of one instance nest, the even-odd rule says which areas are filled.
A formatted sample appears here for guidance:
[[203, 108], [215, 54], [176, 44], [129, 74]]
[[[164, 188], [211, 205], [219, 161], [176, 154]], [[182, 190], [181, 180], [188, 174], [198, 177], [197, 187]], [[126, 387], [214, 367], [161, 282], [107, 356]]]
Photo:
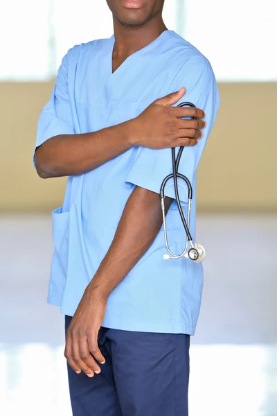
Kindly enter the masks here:
[[[166, 212], [171, 202], [165, 199]], [[100, 372], [93, 357], [105, 363], [97, 338], [107, 298], [150, 248], [162, 223], [159, 194], [136, 187], [127, 200], [111, 247], [87, 286], [66, 333], [65, 356], [75, 372], [83, 371], [88, 376]]]

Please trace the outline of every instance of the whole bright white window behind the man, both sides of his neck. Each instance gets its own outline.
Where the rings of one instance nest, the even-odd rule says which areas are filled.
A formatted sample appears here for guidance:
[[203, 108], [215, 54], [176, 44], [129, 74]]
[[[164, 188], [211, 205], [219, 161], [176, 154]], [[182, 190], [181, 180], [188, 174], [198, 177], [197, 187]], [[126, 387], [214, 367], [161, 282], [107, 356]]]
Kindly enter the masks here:
[[[74, 44], [110, 37], [105, 0], [8, 0], [0, 80], [48, 80]], [[165, 0], [164, 19], [210, 60], [219, 81], [277, 80], [276, 0]]]

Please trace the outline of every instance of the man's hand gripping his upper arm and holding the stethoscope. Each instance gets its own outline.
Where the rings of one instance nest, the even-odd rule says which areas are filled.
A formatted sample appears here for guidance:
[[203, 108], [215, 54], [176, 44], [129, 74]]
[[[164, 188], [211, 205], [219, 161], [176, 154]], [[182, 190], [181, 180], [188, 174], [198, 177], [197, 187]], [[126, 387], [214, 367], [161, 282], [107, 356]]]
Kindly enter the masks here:
[[[183, 87], [178, 92], [159, 98], [139, 116], [129, 121], [134, 146], [153, 149], [178, 146], [195, 146], [203, 137], [206, 127], [203, 110], [195, 107], [172, 107], [185, 95]], [[195, 119], [182, 119], [195, 117]]]

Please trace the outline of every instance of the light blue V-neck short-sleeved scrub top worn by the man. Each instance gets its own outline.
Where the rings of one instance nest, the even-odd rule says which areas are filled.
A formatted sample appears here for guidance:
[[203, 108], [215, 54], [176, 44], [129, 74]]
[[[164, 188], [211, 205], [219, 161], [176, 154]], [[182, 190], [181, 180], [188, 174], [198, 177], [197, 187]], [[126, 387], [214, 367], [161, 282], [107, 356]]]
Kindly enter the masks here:
[[[220, 104], [208, 60], [173, 31], [129, 56], [112, 73], [114, 36], [74, 46], [57, 74], [51, 99], [39, 117], [37, 143], [56, 135], [107, 128], [139, 116], [157, 98], [186, 87], [182, 101], [206, 113], [204, 138], [184, 149], [179, 172], [193, 184], [196, 168]], [[177, 103], [178, 104], [178, 103]], [[159, 120], [157, 120], [159, 123]], [[172, 173], [171, 150], [134, 147], [84, 175], [69, 177], [62, 208], [53, 211], [55, 250], [48, 302], [73, 315], [84, 289], [109, 250], [125, 203], [134, 187], [159, 193]], [[180, 186], [184, 209], [186, 186]], [[166, 194], [175, 197], [170, 185]], [[173, 252], [181, 253], [186, 234], [176, 202], [167, 216]], [[195, 198], [190, 230], [195, 237]], [[132, 271], [111, 293], [104, 327], [164, 333], [195, 332], [202, 296], [201, 263], [163, 260], [163, 229]]]

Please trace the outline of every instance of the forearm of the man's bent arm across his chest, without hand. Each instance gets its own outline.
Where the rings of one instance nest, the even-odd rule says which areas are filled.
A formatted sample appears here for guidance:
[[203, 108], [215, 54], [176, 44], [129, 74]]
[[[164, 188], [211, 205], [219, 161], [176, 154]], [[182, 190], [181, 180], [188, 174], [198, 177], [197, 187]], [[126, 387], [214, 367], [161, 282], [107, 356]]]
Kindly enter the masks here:
[[127, 121], [98, 132], [51, 137], [37, 148], [40, 177], [81, 175], [135, 146], [132, 123]]

